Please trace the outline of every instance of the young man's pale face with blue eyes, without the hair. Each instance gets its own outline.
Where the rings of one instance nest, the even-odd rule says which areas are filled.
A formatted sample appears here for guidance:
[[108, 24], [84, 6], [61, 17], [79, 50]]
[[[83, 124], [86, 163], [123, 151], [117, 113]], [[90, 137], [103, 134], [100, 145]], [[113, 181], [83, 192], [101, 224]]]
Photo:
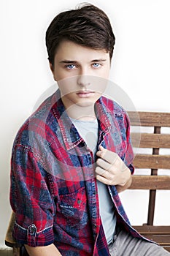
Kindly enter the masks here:
[[109, 78], [110, 59], [106, 50], [94, 50], [63, 40], [50, 64], [65, 108], [91, 105], [101, 96]]

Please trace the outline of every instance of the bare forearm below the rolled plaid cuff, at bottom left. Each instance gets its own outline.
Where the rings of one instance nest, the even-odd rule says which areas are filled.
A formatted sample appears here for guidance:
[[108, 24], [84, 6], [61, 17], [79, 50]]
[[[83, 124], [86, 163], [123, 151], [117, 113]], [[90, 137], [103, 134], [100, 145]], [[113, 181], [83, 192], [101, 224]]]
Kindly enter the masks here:
[[58, 251], [54, 244], [37, 247], [31, 247], [25, 244], [25, 247], [29, 256], [61, 256], [61, 253]]

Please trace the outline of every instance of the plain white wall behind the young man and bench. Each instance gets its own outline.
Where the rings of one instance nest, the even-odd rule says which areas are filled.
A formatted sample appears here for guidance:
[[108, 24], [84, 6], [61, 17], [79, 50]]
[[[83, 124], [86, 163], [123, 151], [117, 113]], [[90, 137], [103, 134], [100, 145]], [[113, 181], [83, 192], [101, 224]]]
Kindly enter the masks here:
[[[1, 0], [0, 3], [1, 243], [4, 242], [11, 211], [9, 160], [12, 142], [39, 96], [54, 83], [47, 63], [45, 31], [58, 12], [80, 2]], [[136, 110], [170, 112], [169, 0], [93, 0], [90, 3], [107, 12], [115, 31], [110, 80], [126, 91]], [[132, 224], [146, 222], [146, 214], [142, 210], [145, 192], [128, 191], [121, 197]], [[158, 197], [161, 209], [155, 223], [167, 224], [170, 212], [164, 209], [169, 202], [169, 194], [161, 192]]]

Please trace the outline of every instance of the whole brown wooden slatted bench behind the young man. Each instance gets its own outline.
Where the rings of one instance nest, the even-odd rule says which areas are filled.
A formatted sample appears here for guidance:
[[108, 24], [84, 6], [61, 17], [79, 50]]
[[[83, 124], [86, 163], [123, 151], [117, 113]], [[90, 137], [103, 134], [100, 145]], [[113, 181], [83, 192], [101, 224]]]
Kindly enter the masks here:
[[[169, 134], [161, 134], [162, 127], [170, 127], [170, 113], [128, 112], [128, 115], [131, 120], [131, 127], [152, 127], [152, 133], [131, 133], [134, 148], [138, 146], [146, 149], [152, 148], [152, 154], [139, 153], [134, 158], [134, 167], [136, 169], [150, 169], [149, 176], [134, 175], [130, 187], [130, 189], [150, 190], [147, 223], [142, 226], [134, 226], [134, 228], [143, 236], [156, 241], [170, 252], [170, 226], [153, 225], [156, 190], [170, 189], [170, 176], [158, 175], [159, 169], [170, 170], [170, 132]], [[159, 154], [160, 148], [169, 148], [169, 154]], [[167, 202], [167, 207], [169, 207], [169, 202]], [[26, 255], [23, 252], [23, 246], [17, 244], [12, 238], [14, 221], [15, 214], [12, 213], [5, 244], [13, 247], [15, 256]]]

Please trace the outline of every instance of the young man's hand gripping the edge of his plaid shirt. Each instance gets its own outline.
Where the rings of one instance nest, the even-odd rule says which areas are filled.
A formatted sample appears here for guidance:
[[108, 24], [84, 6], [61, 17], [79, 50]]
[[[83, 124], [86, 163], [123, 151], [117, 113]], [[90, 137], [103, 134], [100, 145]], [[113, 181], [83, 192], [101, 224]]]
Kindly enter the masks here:
[[131, 170], [125, 165], [123, 160], [112, 151], [100, 146], [97, 151], [96, 178], [107, 185], [115, 185], [117, 191], [123, 191], [131, 185]]

